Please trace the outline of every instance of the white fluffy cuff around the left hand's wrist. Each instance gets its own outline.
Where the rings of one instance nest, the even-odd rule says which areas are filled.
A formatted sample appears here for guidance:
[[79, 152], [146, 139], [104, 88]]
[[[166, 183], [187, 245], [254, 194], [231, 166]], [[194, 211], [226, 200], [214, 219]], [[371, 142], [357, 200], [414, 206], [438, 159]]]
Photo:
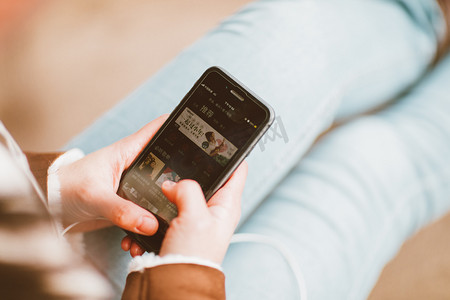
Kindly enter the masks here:
[[47, 199], [50, 213], [54, 216], [60, 216], [62, 212], [61, 205], [61, 185], [58, 178], [58, 170], [62, 166], [71, 164], [84, 157], [83, 151], [78, 148], [71, 149], [58, 157], [48, 168], [47, 176]]

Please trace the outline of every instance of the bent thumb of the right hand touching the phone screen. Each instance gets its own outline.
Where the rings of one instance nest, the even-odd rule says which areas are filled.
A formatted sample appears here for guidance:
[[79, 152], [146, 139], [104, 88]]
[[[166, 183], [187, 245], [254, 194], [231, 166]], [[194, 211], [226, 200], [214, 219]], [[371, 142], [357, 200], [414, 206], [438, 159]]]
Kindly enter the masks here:
[[167, 180], [162, 184], [162, 191], [177, 206], [179, 215], [198, 215], [207, 210], [202, 189], [193, 180], [181, 180], [177, 183]]

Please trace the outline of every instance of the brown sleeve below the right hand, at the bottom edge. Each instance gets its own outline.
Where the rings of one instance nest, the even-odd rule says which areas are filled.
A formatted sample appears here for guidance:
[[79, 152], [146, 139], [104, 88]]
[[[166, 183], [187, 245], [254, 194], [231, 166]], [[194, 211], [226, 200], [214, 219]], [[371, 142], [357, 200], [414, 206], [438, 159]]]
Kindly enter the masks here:
[[133, 272], [122, 300], [224, 300], [225, 275], [195, 264], [169, 264]]

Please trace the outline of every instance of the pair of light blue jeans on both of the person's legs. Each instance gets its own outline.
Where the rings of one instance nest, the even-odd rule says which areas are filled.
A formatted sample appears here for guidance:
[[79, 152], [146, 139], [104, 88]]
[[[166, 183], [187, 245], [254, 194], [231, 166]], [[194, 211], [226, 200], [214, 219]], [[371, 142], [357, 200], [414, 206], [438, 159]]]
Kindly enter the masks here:
[[[403, 241], [450, 206], [450, 59], [428, 72], [443, 26], [431, 0], [257, 1], [67, 147], [91, 152], [136, 131], [170, 112], [206, 68], [224, 67], [277, 113], [247, 159], [239, 231], [288, 246], [309, 299], [365, 299]], [[122, 236], [86, 236], [118, 294], [129, 261]], [[267, 246], [231, 246], [224, 269], [228, 299], [298, 299]]]

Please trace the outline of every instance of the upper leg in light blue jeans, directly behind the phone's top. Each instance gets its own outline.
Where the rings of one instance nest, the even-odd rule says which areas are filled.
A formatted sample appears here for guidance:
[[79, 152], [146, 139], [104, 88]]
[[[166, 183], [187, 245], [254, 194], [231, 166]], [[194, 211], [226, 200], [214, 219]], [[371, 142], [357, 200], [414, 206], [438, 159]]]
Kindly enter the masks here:
[[[336, 115], [384, 103], [421, 76], [436, 47], [433, 22], [440, 19], [433, 3], [405, 9], [408, 4], [396, 1], [255, 2], [180, 54], [68, 147], [90, 152], [128, 135], [170, 112], [207, 67], [223, 66], [279, 116], [278, 131], [248, 158], [245, 218]], [[98, 238], [88, 240], [100, 247]], [[117, 263], [108, 261], [99, 262], [102, 269]], [[107, 273], [124, 282], [123, 270]]]

